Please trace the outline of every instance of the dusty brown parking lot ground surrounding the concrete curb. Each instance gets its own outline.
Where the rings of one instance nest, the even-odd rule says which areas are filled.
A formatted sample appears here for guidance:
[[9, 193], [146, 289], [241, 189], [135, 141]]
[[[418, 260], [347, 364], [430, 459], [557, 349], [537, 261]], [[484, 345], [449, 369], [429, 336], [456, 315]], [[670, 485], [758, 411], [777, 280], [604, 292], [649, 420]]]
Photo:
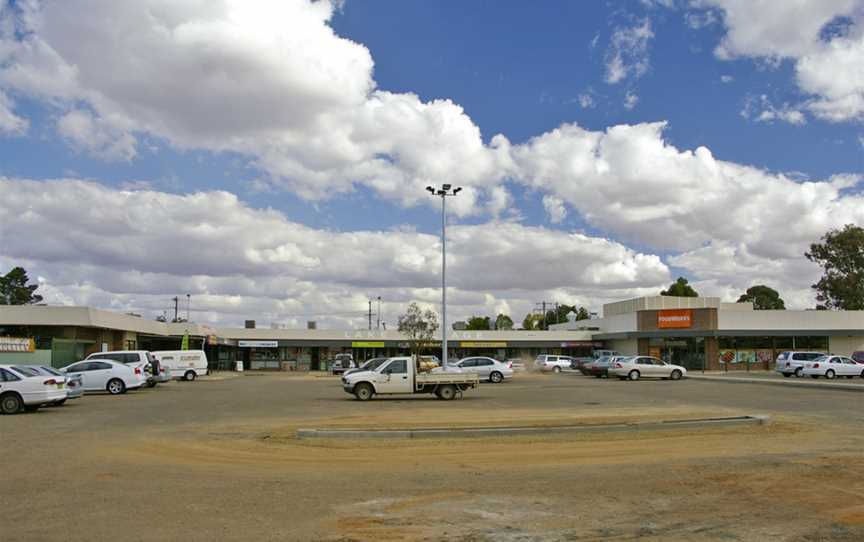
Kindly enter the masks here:
[[[761, 427], [298, 440], [312, 427], [767, 414]], [[861, 540], [864, 393], [519, 374], [360, 403], [226, 374], [0, 418], [4, 540]]]

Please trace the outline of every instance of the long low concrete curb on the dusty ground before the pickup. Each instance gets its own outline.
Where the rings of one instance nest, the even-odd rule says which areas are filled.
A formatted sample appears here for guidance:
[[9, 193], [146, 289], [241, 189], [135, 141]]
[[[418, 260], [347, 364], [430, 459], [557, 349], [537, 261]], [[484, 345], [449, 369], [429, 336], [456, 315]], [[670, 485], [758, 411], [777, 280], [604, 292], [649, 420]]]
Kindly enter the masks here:
[[663, 420], [598, 425], [559, 425], [541, 427], [465, 427], [430, 429], [298, 429], [297, 438], [462, 438], [504, 437], [519, 435], [547, 435], [557, 433], [622, 433], [635, 431], [665, 431], [670, 429], [704, 429], [738, 425], [764, 425], [768, 416], [733, 416], [727, 418], [697, 418], [691, 420]]

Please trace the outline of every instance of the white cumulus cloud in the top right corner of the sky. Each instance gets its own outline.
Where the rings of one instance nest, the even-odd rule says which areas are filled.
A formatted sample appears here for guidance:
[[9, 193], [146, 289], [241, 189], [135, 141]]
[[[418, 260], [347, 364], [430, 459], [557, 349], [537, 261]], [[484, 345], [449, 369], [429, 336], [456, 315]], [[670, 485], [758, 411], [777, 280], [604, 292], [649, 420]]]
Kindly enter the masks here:
[[726, 35], [715, 49], [718, 58], [791, 59], [799, 88], [814, 97], [807, 104], [811, 113], [832, 122], [864, 119], [860, 0], [699, 0], [696, 5], [722, 13]]

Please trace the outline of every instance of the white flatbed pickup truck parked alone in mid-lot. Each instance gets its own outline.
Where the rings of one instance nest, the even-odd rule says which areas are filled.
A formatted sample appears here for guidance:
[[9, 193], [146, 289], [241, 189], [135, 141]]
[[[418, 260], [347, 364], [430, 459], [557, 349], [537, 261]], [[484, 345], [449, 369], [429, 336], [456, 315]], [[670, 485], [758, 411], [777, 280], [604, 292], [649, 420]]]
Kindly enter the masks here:
[[419, 372], [414, 358], [390, 358], [376, 369], [357, 371], [342, 377], [342, 389], [360, 401], [375, 395], [434, 393], [439, 399], [454, 399], [461, 392], [476, 388], [479, 377], [460, 371]]

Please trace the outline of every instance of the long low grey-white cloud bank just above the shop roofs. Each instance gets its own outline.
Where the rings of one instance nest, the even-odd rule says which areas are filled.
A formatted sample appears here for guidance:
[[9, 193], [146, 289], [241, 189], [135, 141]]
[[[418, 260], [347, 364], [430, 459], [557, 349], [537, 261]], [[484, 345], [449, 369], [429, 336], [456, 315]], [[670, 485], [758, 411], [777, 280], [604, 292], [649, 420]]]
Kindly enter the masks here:
[[[238, 323], [255, 310], [280, 321], [315, 307], [358, 312], [372, 293], [393, 310], [438, 295], [437, 235], [317, 230], [222, 191], [12, 179], [0, 191], [0, 263], [44, 276], [53, 303], [152, 312], [188, 291], [211, 321]], [[603, 298], [606, 289], [659, 288], [670, 276], [657, 256], [582, 234], [490, 222], [451, 225], [448, 237], [457, 316], [501, 299], [527, 311], [549, 289]]]

